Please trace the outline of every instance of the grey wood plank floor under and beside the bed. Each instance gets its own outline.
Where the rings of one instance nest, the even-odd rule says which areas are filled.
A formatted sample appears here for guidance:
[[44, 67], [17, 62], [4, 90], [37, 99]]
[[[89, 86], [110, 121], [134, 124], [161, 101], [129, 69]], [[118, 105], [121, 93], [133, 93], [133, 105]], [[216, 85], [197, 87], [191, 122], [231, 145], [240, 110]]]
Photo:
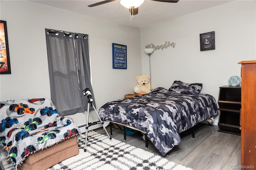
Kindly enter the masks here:
[[[110, 135], [110, 127], [106, 129]], [[195, 127], [194, 139], [191, 130], [182, 132], [180, 134], [182, 142], [164, 158], [193, 170], [230, 170], [234, 166], [240, 166], [240, 136], [218, 132], [218, 129], [216, 125], [209, 127], [207, 124], [199, 123]], [[103, 128], [94, 129], [94, 131], [107, 135]], [[126, 135], [124, 140], [123, 131], [113, 129], [111, 137], [162, 156], [149, 140], [148, 148], [145, 147], [141, 134]]]

